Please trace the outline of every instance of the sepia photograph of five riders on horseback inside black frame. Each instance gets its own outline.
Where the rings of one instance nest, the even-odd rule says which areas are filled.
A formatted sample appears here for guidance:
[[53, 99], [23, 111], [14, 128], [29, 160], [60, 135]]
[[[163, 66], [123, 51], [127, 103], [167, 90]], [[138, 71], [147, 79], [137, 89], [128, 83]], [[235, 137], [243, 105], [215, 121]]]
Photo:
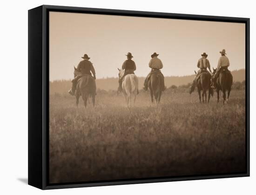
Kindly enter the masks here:
[[245, 23], [48, 17], [49, 184], [246, 173]]

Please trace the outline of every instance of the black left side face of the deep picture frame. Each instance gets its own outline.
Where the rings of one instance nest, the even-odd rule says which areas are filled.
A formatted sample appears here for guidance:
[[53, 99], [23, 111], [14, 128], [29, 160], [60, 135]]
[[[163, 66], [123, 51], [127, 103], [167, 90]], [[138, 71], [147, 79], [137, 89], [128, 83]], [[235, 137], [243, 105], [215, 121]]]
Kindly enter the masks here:
[[28, 185], [42, 186], [42, 6], [28, 10]]

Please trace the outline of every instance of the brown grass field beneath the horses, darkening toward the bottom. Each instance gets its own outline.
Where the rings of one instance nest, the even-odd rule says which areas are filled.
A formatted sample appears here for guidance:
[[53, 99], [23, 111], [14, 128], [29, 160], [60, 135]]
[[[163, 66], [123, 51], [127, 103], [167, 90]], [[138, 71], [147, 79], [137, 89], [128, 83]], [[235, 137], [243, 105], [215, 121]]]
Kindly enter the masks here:
[[74, 97], [50, 95], [50, 183], [245, 171], [244, 90], [224, 106], [216, 93], [209, 104], [175, 90], [158, 108], [149, 99], [141, 92], [128, 110], [121, 95], [98, 92], [77, 113]]

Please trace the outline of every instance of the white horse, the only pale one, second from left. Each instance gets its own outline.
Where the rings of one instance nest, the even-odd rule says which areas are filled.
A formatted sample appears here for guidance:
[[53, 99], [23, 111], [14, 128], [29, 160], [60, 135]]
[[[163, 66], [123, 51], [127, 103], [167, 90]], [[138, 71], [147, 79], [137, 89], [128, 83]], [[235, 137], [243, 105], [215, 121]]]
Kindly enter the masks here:
[[[119, 79], [123, 77], [124, 70], [119, 69]], [[124, 77], [123, 83], [122, 83], [122, 92], [123, 96], [125, 97], [127, 107], [132, 106], [132, 100], [133, 100], [133, 106], [135, 105], [136, 101], [136, 95], [139, 87], [139, 80], [135, 74], [128, 74]]]

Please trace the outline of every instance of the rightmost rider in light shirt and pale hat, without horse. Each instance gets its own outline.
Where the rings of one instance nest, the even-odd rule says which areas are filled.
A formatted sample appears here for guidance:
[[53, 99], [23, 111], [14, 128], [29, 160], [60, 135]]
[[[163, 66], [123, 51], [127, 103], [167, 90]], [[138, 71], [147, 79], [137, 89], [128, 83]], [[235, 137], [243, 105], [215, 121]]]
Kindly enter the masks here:
[[228, 70], [228, 67], [229, 67], [229, 58], [226, 56], [226, 50], [225, 49], [222, 49], [222, 51], [220, 52], [221, 53], [221, 57], [219, 58], [219, 61], [218, 61], [218, 66], [217, 66], [217, 71], [216, 73], [213, 75], [212, 77], [212, 88], [216, 88], [216, 80], [220, 74], [220, 72], [225, 68]]

